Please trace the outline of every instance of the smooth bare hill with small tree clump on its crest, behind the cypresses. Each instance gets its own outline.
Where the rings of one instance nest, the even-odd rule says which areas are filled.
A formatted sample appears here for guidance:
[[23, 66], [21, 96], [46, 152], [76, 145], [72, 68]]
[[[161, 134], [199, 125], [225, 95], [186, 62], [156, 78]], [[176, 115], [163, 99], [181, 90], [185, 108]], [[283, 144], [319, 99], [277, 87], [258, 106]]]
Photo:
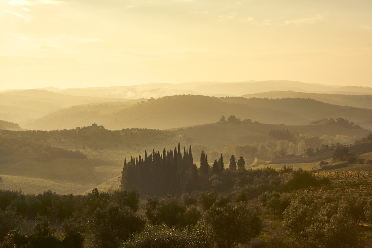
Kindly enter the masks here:
[[312, 134], [318, 137], [323, 135], [364, 137], [369, 133], [369, 131], [364, 129], [346, 129], [338, 125], [275, 125], [245, 122], [239, 124], [213, 123], [179, 129], [172, 132], [190, 137], [190, 143], [198, 143], [208, 148], [223, 149], [227, 144], [253, 144], [266, 141], [276, 142], [277, 139], [269, 136], [269, 131], [283, 129], [291, 133]]

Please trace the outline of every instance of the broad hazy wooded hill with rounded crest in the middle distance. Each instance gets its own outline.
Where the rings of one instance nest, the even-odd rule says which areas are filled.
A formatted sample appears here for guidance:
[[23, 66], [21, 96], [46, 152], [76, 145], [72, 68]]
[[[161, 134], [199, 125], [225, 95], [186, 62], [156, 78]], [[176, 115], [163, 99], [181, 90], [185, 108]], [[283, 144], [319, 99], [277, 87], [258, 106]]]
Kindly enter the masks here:
[[[115, 106], [106, 106], [107, 111]], [[222, 115], [236, 115], [261, 122], [300, 123], [310, 120], [298, 117], [285, 110], [273, 110], [268, 107], [251, 107], [247, 104], [228, 103], [222, 98], [179, 95], [151, 99], [135, 104], [112, 114], [103, 114], [89, 110], [75, 110], [77, 107], [60, 110], [39, 118], [29, 126], [33, 129], [62, 129], [81, 126], [83, 123], [100, 123], [108, 129], [154, 128], [168, 129], [213, 123]]]

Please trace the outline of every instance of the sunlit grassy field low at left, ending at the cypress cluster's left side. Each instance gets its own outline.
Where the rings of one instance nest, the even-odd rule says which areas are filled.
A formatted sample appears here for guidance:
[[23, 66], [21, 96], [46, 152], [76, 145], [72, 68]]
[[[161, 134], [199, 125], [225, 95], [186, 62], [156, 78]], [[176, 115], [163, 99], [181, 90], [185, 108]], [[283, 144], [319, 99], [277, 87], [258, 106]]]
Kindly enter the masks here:
[[1, 167], [3, 184], [0, 189], [22, 190], [25, 193], [52, 190], [58, 194], [83, 194], [94, 187], [103, 187], [106, 191], [116, 189], [124, 157], [131, 155], [115, 149], [80, 151], [88, 158], [59, 158], [50, 162], [13, 158]]

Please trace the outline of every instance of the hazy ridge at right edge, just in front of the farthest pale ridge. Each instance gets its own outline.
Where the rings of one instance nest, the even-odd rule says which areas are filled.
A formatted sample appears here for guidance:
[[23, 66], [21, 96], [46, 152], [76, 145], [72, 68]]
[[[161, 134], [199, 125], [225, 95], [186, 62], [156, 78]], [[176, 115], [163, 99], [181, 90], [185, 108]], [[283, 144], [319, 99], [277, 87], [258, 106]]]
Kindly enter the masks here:
[[295, 91], [268, 91], [256, 94], [246, 94], [245, 98], [310, 98], [324, 103], [340, 106], [353, 106], [372, 109], [372, 95], [346, 95], [346, 94], [318, 94]]

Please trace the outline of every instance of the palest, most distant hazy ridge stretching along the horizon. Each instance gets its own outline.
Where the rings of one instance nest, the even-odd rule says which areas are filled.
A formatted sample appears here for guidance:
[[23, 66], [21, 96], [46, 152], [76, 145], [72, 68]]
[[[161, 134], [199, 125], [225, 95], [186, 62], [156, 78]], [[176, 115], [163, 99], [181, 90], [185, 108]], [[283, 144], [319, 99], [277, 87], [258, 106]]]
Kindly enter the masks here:
[[172, 96], [176, 94], [202, 94], [206, 96], [240, 96], [270, 90], [291, 90], [311, 93], [332, 94], [372, 94], [370, 87], [334, 86], [325, 84], [302, 83], [288, 80], [244, 81], [244, 82], [187, 82], [181, 84], [137, 84], [132, 86], [90, 87], [90, 88], [45, 88], [61, 94], [74, 96], [150, 98]]

